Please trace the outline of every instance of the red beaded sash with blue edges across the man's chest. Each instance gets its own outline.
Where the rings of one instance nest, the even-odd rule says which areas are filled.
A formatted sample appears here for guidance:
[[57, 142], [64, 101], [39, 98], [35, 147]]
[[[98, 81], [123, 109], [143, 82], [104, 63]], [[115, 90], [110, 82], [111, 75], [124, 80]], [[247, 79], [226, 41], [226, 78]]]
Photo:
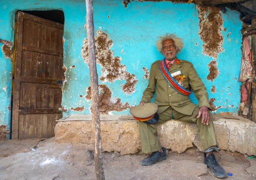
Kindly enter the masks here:
[[180, 86], [174, 79], [173, 77], [170, 75], [170, 73], [167, 71], [166, 67], [165, 67], [165, 63], [164, 63], [165, 59], [162, 59], [159, 63], [160, 66], [160, 70], [164, 76], [164, 78], [166, 79], [166, 81], [171, 85], [171, 87], [173, 89], [175, 89], [175, 91], [177, 91], [179, 94], [185, 95], [185, 96], [189, 96], [189, 94], [191, 94], [192, 91], [188, 91], [185, 88], [183, 88], [182, 86]]

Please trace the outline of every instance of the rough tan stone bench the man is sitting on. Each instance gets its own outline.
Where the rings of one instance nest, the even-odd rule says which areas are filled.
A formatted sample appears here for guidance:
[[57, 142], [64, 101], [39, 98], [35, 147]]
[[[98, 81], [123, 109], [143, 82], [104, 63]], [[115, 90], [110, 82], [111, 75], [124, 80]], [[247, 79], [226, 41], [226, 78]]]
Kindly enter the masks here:
[[[101, 115], [101, 141], [103, 151], [118, 151], [121, 155], [133, 154], [141, 149], [137, 120], [119, 120], [121, 115]], [[203, 151], [196, 124], [170, 120], [157, 124], [163, 147], [181, 153], [186, 148], [198, 147]], [[232, 115], [214, 115], [214, 127], [219, 149], [256, 155], [256, 124]], [[91, 115], [71, 115], [57, 122], [56, 142], [71, 142], [93, 150]]]

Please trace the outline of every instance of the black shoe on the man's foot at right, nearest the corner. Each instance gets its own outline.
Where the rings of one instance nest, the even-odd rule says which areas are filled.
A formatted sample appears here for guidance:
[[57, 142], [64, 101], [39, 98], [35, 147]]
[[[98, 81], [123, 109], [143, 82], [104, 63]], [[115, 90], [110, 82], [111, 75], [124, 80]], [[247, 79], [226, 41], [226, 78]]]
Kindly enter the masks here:
[[218, 162], [216, 161], [214, 154], [209, 154], [208, 157], [206, 157], [206, 153], [204, 152], [204, 157], [204, 163], [211, 169], [213, 175], [215, 175], [216, 177], [227, 176], [223, 167], [221, 167], [220, 164], [218, 164]]

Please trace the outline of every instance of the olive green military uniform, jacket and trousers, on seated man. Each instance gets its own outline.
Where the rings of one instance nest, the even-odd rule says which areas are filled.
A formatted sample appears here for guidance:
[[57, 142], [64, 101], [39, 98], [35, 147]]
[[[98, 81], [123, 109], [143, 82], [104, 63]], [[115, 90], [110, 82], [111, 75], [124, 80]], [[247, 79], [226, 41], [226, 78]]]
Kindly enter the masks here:
[[[193, 64], [185, 60], [174, 61], [173, 65], [169, 69], [169, 73], [171, 74], [175, 70], [180, 70], [182, 72], [185, 76], [185, 79], [183, 79], [183, 88], [193, 90], [198, 99], [199, 106], [192, 103], [189, 96], [179, 94], [169, 85], [161, 73], [159, 62], [160, 61], [156, 61], [151, 65], [149, 84], [143, 92], [141, 101], [146, 103], [151, 102], [151, 98], [156, 92], [155, 103], [158, 105], [157, 113], [159, 114], [159, 121], [157, 123], [164, 123], [172, 117], [173, 119], [186, 123], [196, 123], [204, 150], [212, 146], [218, 147], [212, 114], [209, 125], [202, 123], [202, 115], [200, 118], [197, 118], [200, 107], [206, 106], [210, 110], [211, 107], [209, 106], [206, 87], [198, 76]], [[161, 149], [155, 125], [139, 121], [139, 127], [142, 152], [150, 153]]]

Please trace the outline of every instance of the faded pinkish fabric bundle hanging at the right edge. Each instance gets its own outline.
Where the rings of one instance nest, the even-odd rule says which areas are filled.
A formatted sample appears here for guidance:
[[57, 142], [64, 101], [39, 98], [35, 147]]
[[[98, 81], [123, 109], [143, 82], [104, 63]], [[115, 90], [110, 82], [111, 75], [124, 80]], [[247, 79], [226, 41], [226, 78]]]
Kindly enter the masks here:
[[247, 89], [249, 89], [249, 82], [252, 82], [252, 66], [251, 66], [251, 36], [243, 38], [242, 46], [242, 63], [239, 81], [243, 82], [241, 86], [241, 102], [247, 103]]

